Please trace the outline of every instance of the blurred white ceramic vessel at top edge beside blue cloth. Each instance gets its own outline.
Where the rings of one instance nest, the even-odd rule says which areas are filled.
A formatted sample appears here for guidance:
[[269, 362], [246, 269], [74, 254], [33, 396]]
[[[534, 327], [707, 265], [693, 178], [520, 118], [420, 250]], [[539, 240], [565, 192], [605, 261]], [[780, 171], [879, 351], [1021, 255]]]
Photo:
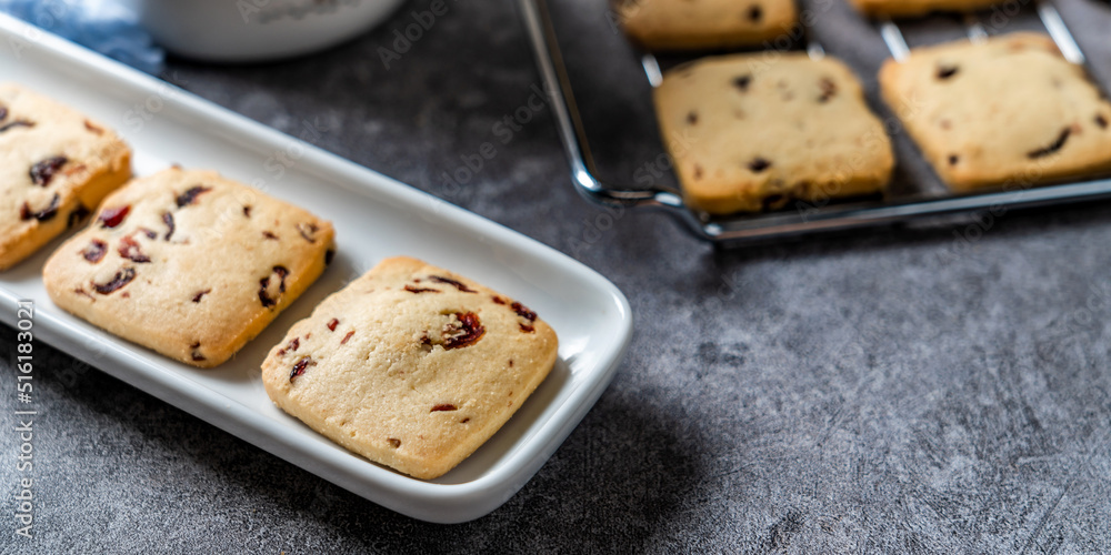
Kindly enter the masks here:
[[404, 0], [130, 0], [167, 50], [220, 62], [274, 60], [338, 44]]

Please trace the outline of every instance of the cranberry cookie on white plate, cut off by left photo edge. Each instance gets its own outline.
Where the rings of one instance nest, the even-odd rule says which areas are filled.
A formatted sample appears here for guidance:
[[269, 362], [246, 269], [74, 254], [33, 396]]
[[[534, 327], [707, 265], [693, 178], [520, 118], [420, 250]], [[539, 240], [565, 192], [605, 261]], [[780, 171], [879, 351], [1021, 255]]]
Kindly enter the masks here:
[[130, 176], [131, 151], [110, 129], [0, 84], [0, 270], [83, 221]]

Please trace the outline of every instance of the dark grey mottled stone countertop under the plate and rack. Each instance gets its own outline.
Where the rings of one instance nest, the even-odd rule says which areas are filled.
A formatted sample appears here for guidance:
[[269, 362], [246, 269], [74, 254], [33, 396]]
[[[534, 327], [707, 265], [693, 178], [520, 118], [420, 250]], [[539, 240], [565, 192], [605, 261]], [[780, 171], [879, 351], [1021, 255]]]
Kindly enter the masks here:
[[[617, 174], [650, 161], [651, 129], [632, 132], [645, 88], [598, 32], [604, 2], [559, 1], [569, 49], [593, 54], [574, 71], [597, 148]], [[1058, 3], [1111, 84], [1107, 2]], [[176, 60], [166, 77], [281, 131], [323, 122], [323, 149], [612, 280], [635, 335], [594, 408], [500, 509], [433, 525], [40, 343], [37, 537], [9, 528], [0, 553], [1111, 552], [1111, 205], [1009, 213], [971, 241], [939, 224], [727, 251], [654, 212], [594, 233], [548, 109], [528, 108], [539, 77], [514, 2], [449, 2], [387, 70], [379, 48], [427, 4], [321, 54]], [[811, 4], [827, 48], [874, 72], [874, 31], [840, 0]], [[526, 112], [508, 140], [494, 128]], [[497, 154], [446, 189], [483, 142]], [[7, 390], [14, 331], [0, 332]], [[0, 398], [11, 514], [16, 403]]]

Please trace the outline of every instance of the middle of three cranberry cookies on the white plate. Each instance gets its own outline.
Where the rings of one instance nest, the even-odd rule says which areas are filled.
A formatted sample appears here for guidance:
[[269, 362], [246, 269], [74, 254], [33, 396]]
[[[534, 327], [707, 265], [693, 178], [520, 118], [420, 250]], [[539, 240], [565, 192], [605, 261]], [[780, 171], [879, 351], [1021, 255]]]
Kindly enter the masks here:
[[43, 281], [74, 315], [209, 367], [320, 276], [333, 238], [331, 223], [216, 172], [170, 169], [106, 199]]

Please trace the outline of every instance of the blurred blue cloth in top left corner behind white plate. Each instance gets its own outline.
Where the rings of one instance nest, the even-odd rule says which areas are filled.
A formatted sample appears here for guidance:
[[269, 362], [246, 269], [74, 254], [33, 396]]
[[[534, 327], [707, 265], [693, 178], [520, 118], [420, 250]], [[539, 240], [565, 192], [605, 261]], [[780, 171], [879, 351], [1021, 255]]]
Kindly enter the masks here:
[[164, 68], [166, 52], [118, 0], [0, 0], [0, 11], [147, 73]]

